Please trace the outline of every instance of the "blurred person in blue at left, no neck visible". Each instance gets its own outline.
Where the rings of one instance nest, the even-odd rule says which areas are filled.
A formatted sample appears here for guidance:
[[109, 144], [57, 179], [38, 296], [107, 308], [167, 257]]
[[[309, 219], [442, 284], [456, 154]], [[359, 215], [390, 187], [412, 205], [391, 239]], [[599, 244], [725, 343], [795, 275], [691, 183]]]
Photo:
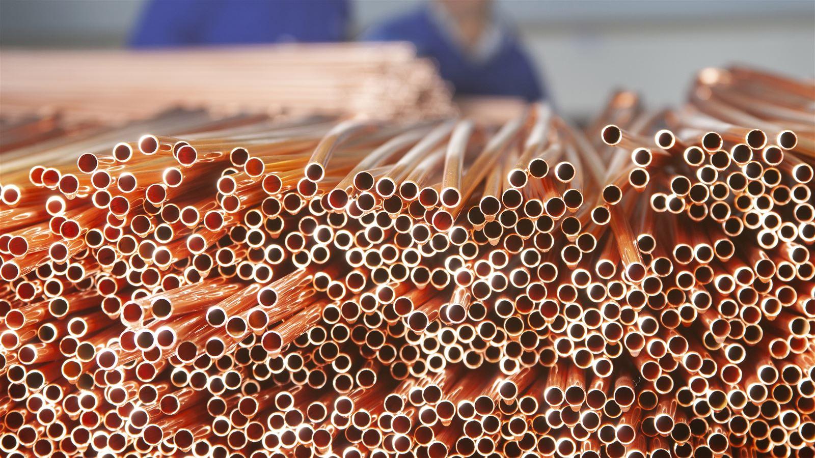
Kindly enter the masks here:
[[151, 0], [130, 45], [339, 42], [348, 20], [346, 0]]

